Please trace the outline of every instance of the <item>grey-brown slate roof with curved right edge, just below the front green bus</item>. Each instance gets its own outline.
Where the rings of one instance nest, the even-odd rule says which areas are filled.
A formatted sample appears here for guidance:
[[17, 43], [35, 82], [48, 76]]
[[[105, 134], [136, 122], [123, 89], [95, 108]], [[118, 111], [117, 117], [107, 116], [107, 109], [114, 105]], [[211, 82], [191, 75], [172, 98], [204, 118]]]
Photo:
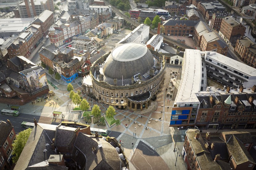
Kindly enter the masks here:
[[[96, 149], [95, 152], [92, 150], [93, 147]], [[78, 153], [76, 154], [76, 152]], [[81, 166], [81, 169], [85, 170], [119, 170], [123, 167], [117, 150], [111, 144], [102, 138], [90, 137], [81, 132], [76, 138], [72, 159]]]

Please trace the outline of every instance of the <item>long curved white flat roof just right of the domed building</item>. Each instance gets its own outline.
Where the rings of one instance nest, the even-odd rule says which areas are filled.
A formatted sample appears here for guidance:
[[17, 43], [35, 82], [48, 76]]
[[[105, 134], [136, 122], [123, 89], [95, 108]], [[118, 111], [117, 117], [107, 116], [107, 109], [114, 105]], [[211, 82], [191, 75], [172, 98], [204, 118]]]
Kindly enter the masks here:
[[201, 62], [200, 50], [185, 50], [180, 87], [174, 104], [200, 103], [195, 93], [201, 88]]

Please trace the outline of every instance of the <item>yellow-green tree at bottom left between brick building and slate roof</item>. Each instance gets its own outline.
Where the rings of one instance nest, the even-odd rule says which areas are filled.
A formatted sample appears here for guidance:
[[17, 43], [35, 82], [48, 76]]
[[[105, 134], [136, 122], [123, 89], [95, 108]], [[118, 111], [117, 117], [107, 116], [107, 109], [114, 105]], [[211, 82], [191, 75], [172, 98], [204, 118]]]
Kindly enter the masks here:
[[16, 140], [14, 140], [14, 143], [12, 144], [13, 146], [13, 152], [12, 155], [14, 155], [12, 157], [12, 161], [13, 163], [17, 163], [19, 156], [25, 146], [25, 144], [27, 143], [27, 139], [29, 137], [29, 135], [31, 134], [32, 129], [31, 128], [27, 128], [26, 130], [23, 130], [21, 132], [19, 132], [18, 135], [16, 135]]

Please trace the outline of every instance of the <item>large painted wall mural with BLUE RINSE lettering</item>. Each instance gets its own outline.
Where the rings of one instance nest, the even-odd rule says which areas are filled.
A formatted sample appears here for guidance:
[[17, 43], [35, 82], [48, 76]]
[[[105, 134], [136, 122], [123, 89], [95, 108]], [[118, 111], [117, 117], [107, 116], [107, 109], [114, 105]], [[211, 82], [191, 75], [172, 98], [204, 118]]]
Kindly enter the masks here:
[[46, 73], [43, 67], [35, 67], [29, 70], [26, 70], [26, 78], [30, 86], [31, 92], [35, 92], [41, 88], [47, 86]]

